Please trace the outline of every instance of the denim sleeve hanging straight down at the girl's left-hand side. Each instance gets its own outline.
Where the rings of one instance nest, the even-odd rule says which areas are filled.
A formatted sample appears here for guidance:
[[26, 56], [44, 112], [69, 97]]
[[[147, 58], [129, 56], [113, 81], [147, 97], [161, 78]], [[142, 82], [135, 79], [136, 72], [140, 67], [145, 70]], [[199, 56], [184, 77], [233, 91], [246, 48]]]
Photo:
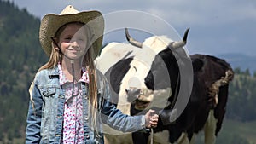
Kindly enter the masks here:
[[30, 87], [29, 107], [26, 118], [26, 144], [39, 143], [43, 98], [37, 85], [33, 82]]

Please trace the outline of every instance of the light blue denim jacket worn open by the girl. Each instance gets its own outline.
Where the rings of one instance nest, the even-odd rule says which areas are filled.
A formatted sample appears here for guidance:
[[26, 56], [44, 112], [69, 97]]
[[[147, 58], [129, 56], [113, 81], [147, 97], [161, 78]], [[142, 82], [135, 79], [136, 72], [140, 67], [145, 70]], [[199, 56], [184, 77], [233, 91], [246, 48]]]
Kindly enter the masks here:
[[[142, 130], [145, 124], [144, 116], [128, 116], [119, 111], [111, 103], [108, 81], [97, 71], [98, 85], [98, 110], [100, 122], [108, 124], [116, 130], [132, 132]], [[96, 136], [94, 130], [90, 129], [88, 122], [88, 86], [82, 84], [84, 105], [84, 143], [104, 143], [102, 130]], [[36, 74], [31, 86], [29, 108], [26, 119], [26, 143], [50, 143], [61, 142], [61, 130], [65, 103], [65, 91], [59, 84], [59, 70], [45, 69]], [[100, 126], [101, 127], [101, 126]]]

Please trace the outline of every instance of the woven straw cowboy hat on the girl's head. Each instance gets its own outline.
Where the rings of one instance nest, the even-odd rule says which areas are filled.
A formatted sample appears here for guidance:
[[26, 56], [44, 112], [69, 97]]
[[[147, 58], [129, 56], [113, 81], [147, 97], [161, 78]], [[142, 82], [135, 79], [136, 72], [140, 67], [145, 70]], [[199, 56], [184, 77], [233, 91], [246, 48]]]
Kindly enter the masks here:
[[55, 37], [55, 32], [63, 25], [70, 22], [82, 22], [90, 27], [94, 35], [91, 42], [94, 48], [94, 58], [99, 54], [102, 48], [102, 37], [104, 31], [104, 20], [99, 11], [83, 11], [79, 12], [72, 5], [68, 5], [61, 11], [61, 14], [46, 14], [41, 20], [39, 30], [39, 40], [46, 55], [51, 55], [52, 40]]

